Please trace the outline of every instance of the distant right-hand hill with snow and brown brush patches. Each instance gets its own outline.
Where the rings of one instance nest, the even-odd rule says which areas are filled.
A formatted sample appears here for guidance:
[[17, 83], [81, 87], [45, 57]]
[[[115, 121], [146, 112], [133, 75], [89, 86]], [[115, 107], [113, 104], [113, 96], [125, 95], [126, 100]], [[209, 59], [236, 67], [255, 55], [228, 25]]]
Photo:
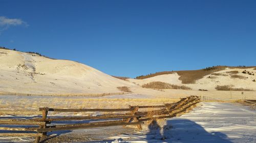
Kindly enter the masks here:
[[219, 66], [194, 71], [159, 72], [126, 80], [141, 86], [161, 81], [180, 86], [185, 85], [193, 90], [230, 90], [231, 87], [231, 90], [256, 91], [256, 68]]

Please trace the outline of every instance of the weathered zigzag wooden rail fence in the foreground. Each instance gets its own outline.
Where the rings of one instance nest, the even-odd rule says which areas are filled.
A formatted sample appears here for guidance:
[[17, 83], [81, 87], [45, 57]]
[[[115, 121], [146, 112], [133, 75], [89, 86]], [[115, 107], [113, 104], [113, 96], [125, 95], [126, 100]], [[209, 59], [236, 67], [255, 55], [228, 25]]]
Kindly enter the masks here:
[[[185, 112], [190, 107], [200, 102], [200, 97], [189, 96], [181, 98], [175, 103], [167, 103], [155, 106], [129, 106], [129, 108], [119, 109], [62, 109], [62, 108], [39, 108], [41, 118], [32, 118], [26, 120], [4, 119], [0, 120], [0, 130], [21, 131], [18, 133], [0, 133], [0, 136], [36, 136], [35, 142], [38, 143], [40, 137], [47, 136], [47, 132], [60, 130], [75, 130], [84, 128], [106, 127], [106, 126], [131, 126], [135, 125], [141, 130], [141, 125], [146, 121], [157, 119], [166, 119], [176, 117], [178, 114]], [[49, 117], [48, 113], [54, 112], [109, 112], [102, 113], [99, 116], [81, 116], [81, 117]], [[38, 111], [35, 111], [38, 112]], [[0, 114], [35, 114], [30, 111], [0, 111]], [[90, 121], [89, 123], [52, 125], [53, 121]], [[3, 125], [7, 127], [3, 127]], [[30, 127], [8, 127], [8, 125], [28, 125]], [[29, 133], [28, 133], [29, 132]]]

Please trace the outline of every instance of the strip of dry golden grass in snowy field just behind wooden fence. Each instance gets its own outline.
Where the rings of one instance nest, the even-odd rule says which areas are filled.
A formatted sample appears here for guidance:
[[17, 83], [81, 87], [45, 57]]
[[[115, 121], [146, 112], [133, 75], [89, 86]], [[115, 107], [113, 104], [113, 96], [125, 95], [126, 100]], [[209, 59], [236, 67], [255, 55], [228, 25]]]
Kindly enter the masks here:
[[[38, 110], [39, 107], [50, 108], [128, 108], [129, 105], [163, 105], [163, 103], [177, 102], [172, 98], [65, 98], [65, 97], [40, 97], [27, 98], [14, 97], [0, 99], [1, 109], [11, 110]], [[53, 114], [53, 112], [51, 112]], [[90, 114], [86, 112], [84, 114]]]

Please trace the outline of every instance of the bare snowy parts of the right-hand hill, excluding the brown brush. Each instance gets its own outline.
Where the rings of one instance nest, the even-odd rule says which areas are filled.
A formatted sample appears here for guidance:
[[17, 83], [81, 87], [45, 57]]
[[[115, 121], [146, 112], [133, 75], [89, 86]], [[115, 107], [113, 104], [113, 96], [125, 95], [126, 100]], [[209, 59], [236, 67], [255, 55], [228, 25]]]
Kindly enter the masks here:
[[[242, 73], [244, 70], [250, 72], [250, 74]], [[238, 71], [238, 73], [233, 74], [229, 73], [230, 71]], [[252, 75], [254, 74], [254, 75]], [[233, 75], [241, 78], [234, 78]], [[247, 68], [247, 69], [239, 69], [239, 68], [225, 68], [224, 70], [214, 72], [212, 74], [206, 75], [201, 79], [196, 80], [193, 84], [182, 84], [181, 80], [179, 80], [179, 75], [177, 73], [173, 74], [164, 74], [158, 75], [150, 78], [145, 79], [127, 79], [130, 82], [136, 83], [138, 85], [143, 85], [145, 83], [153, 82], [153, 81], [161, 81], [170, 84], [176, 85], [186, 85], [187, 87], [192, 88], [193, 90], [216, 90], [217, 85], [231, 85], [232, 88], [243, 88], [243, 89], [250, 89], [256, 91], [256, 70], [254, 68]]]

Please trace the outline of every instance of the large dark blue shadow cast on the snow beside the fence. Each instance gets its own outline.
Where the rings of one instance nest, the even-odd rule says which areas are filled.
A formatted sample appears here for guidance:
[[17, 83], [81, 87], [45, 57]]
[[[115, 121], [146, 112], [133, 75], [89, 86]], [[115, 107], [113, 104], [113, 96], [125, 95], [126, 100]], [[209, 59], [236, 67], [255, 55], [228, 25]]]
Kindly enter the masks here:
[[161, 129], [156, 121], [148, 125], [147, 142], [176, 142], [176, 143], [231, 143], [226, 134], [207, 132], [199, 124], [186, 119], [167, 120]]

